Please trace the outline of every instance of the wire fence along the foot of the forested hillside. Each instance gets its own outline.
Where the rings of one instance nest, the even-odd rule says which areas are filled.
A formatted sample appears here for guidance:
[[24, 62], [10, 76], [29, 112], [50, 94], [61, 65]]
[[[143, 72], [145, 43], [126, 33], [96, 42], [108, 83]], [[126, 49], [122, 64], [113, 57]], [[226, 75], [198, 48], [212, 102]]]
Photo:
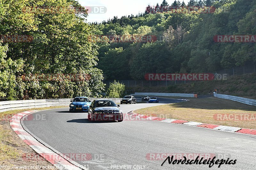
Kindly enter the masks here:
[[[255, 73], [255, 65], [249, 64], [243, 67], [235, 67], [231, 69], [223, 69], [211, 71], [214, 75], [214, 79], [225, 80], [231, 76], [245, 75], [250, 73]], [[126, 87], [167, 87], [170, 85], [186, 84], [191, 82], [197, 82], [199, 80], [164, 80], [164, 81], [149, 81], [149, 80], [118, 80], [120, 83], [123, 83]], [[110, 83], [113, 83], [114, 80], [105, 80], [106, 89], [109, 87]]]

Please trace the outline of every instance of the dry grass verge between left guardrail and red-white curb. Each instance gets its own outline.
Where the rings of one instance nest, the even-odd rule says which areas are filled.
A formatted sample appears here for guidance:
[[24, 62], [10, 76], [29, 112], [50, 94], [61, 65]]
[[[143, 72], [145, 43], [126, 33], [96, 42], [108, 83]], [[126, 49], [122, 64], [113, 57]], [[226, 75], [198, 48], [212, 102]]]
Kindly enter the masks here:
[[[24, 143], [12, 130], [10, 119], [13, 115], [27, 110], [46, 110], [61, 108], [43, 107], [33, 109], [20, 109], [0, 113], [0, 165], [1, 166], [52, 166], [43, 158], [38, 159], [38, 154]], [[33, 155], [33, 157], [28, 155]], [[39, 168], [38, 168], [39, 169]], [[55, 169], [55, 168], [52, 168]]]

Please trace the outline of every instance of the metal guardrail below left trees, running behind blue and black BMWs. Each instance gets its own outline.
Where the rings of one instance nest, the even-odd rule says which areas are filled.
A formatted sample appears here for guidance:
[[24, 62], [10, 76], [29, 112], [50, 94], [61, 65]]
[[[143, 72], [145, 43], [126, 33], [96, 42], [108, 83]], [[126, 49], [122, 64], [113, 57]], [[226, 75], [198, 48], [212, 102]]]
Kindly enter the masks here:
[[[89, 100], [111, 99], [120, 104], [121, 98], [89, 98]], [[42, 99], [42, 100], [12, 100], [0, 101], [0, 112], [16, 109], [27, 109], [36, 107], [68, 106], [73, 99]]]

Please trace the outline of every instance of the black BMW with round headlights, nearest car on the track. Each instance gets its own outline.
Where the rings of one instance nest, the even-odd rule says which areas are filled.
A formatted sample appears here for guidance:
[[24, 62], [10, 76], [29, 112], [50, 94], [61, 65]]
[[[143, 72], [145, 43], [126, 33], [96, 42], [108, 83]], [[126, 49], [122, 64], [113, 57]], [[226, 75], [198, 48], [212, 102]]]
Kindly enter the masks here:
[[123, 121], [123, 112], [113, 100], [94, 100], [89, 108], [89, 121]]

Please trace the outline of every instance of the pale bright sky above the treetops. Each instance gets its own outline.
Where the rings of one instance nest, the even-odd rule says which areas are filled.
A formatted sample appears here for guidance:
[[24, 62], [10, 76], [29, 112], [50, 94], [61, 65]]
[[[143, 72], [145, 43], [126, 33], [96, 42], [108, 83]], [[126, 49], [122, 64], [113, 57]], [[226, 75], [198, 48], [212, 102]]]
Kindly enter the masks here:
[[[91, 8], [87, 22], [102, 22], [117, 16], [118, 18], [126, 15], [137, 15], [139, 12], [144, 13], [148, 4], [155, 6], [159, 5], [163, 0], [77, 0], [82, 6]], [[174, 0], [166, 0], [169, 5]], [[182, 2], [182, 0], [180, 0]], [[188, 4], [189, 0], [184, 0]], [[98, 12], [100, 11], [100, 12]]]

